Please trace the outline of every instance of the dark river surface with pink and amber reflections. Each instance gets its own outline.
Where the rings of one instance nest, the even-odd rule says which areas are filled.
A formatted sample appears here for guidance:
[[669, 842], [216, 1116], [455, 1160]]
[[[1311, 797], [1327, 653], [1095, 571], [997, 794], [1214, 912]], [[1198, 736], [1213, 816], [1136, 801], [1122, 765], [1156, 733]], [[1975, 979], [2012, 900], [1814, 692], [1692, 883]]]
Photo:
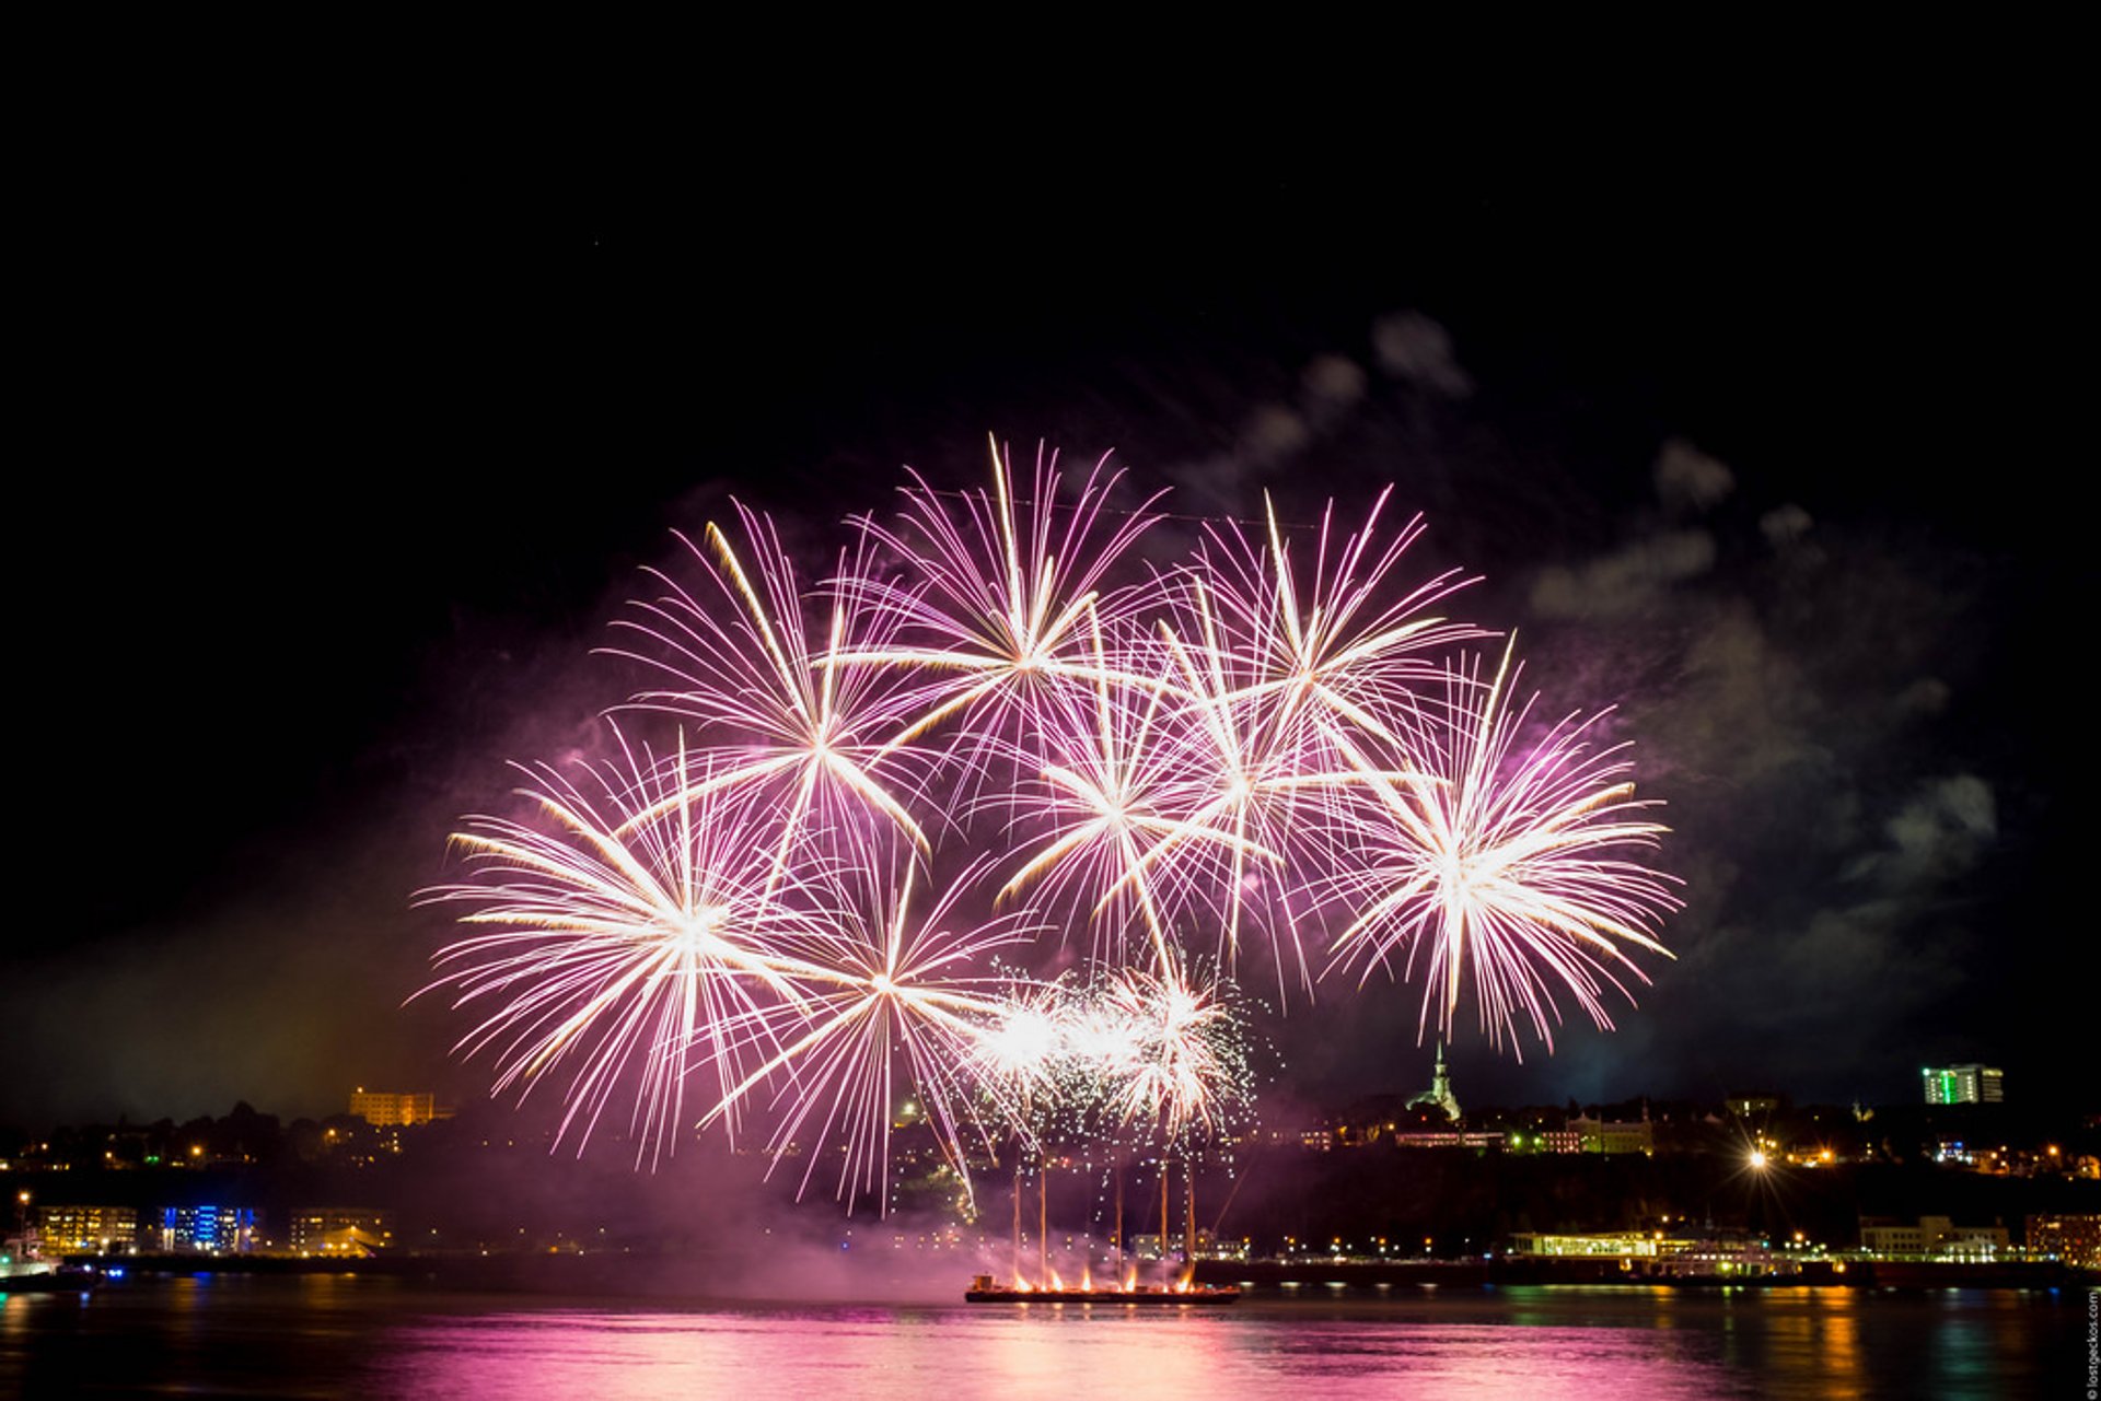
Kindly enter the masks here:
[[143, 1279], [0, 1302], [0, 1395], [2021, 1397], [2069, 1376], [2055, 1294], [1523, 1288], [1229, 1309], [487, 1296]]

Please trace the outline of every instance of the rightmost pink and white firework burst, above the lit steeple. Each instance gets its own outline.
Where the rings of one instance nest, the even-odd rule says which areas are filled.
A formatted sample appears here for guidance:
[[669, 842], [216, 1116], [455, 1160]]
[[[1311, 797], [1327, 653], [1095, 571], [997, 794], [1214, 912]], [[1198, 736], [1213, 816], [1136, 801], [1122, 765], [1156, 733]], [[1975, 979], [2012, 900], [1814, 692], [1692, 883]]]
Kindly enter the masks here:
[[1632, 798], [1624, 746], [1590, 750], [1599, 716], [1565, 716], [1519, 744], [1532, 704], [1509, 708], [1509, 649], [1494, 681], [1445, 681], [1445, 723], [1424, 718], [1416, 735], [1429, 777], [1376, 786], [1376, 807], [1349, 828], [1364, 863], [1326, 882], [1355, 909], [1330, 966], [1368, 977], [1399, 958], [1414, 973], [1420, 958], [1418, 1038], [1433, 1010], [1439, 1031], [1452, 1027], [1471, 966], [1488, 1038], [1515, 1038], [1523, 1012], [1553, 1050], [1557, 985], [1611, 1027], [1603, 989], [1626, 996], [1622, 973], [1647, 981], [1620, 945], [1668, 956], [1653, 926], [1679, 901], [1635, 859], [1664, 828]]

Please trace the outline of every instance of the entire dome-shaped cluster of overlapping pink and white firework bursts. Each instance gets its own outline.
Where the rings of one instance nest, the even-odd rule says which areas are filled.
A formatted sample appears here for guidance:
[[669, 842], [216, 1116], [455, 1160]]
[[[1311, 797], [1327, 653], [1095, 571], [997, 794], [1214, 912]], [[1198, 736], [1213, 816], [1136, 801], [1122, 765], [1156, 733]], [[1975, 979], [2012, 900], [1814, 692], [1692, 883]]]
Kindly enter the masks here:
[[525, 769], [532, 817], [466, 819], [427, 893], [475, 930], [431, 987], [479, 1017], [460, 1050], [498, 1090], [565, 1078], [580, 1147], [622, 1099], [637, 1162], [752, 1120], [887, 1210], [906, 1122], [964, 1187], [1006, 1138], [1231, 1136], [1250, 943], [1280, 1004], [1309, 945], [1359, 987], [1420, 970], [1418, 1038], [1469, 981], [1498, 1046], [1523, 1019], [1553, 1050], [1557, 994], [1609, 1027], [1677, 907], [1624, 746], [1532, 735], [1509, 649], [1488, 683], [1452, 660], [1490, 632], [1441, 615], [1460, 576], [1403, 580], [1422, 523], [1387, 494], [1139, 567], [1158, 498], [1120, 481], [1040, 452], [1017, 483], [994, 445], [990, 489], [914, 475], [809, 588], [742, 504], [698, 586], [653, 573], [620, 655], [668, 681], [630, 708], [691, 731], [613, 729], [616, 762]]

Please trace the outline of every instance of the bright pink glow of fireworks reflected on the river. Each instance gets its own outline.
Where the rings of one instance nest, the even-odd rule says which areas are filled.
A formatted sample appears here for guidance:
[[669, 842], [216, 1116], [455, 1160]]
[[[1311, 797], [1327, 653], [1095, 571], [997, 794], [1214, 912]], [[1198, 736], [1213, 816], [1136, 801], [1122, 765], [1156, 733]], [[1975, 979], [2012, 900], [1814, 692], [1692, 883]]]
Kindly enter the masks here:
[[1748, 1390], [1656, 1327], [1511, 1327], [1301, 1311], [532, 1311], [401, 1340], [387, 1388], [427, 1397], [1641, 1397]]

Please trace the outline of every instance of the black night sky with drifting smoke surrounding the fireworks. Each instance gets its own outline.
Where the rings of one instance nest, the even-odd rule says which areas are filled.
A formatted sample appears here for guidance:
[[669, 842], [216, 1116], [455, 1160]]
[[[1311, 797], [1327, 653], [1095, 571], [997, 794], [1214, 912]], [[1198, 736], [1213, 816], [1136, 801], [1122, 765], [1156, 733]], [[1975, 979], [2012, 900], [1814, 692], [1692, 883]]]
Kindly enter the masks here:
[[[1553, 1059], [1464, 1036], [1462, 1101], [1901, 1101], [1946, 1059], [2090, 1094], [2067, 176], [2044, 99], [1826, 86], [996, 158], [933, 111], [662, 155], [237, 105], [82, 134], [17, 269], [0, 1124], [479, 1092], [399, 1008], [445, 937], [410, 895], [506, 758], [624, 697], [586, 653], [637, 569], [729, 494], [838, 540], [903, 464], [975, 485], [987, 431], [1191, 513], [1395, 483], [1534, 685], [1618, 706], [1679, 960]], [[1277, 1027], [1290, 1088], [1416, 1088], [1414, 1006]]]

